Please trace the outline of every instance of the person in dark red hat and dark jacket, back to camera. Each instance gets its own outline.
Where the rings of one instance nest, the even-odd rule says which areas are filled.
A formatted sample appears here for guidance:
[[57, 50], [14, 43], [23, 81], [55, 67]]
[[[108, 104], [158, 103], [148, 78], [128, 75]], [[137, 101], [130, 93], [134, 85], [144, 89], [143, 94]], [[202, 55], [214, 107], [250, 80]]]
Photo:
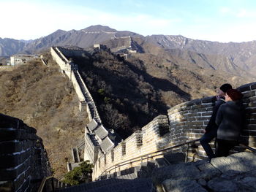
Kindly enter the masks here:
[[227, 156], [229, 151], [238, 144], [243, 124], [243, 94], [236, 89], [230, 89], [225, 94], [225, 104], [219, 107], [216, 116], [217, 157]]

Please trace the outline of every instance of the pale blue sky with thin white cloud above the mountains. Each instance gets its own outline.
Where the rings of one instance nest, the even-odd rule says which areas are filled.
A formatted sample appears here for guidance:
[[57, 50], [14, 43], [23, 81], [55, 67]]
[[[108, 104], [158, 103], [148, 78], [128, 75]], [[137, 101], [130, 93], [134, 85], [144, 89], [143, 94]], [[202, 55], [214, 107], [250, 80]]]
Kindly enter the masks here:
[[93, 25], [218, 42], [256, 40], [255, 0], [0, 0], [0, 37], [37, 39]]

